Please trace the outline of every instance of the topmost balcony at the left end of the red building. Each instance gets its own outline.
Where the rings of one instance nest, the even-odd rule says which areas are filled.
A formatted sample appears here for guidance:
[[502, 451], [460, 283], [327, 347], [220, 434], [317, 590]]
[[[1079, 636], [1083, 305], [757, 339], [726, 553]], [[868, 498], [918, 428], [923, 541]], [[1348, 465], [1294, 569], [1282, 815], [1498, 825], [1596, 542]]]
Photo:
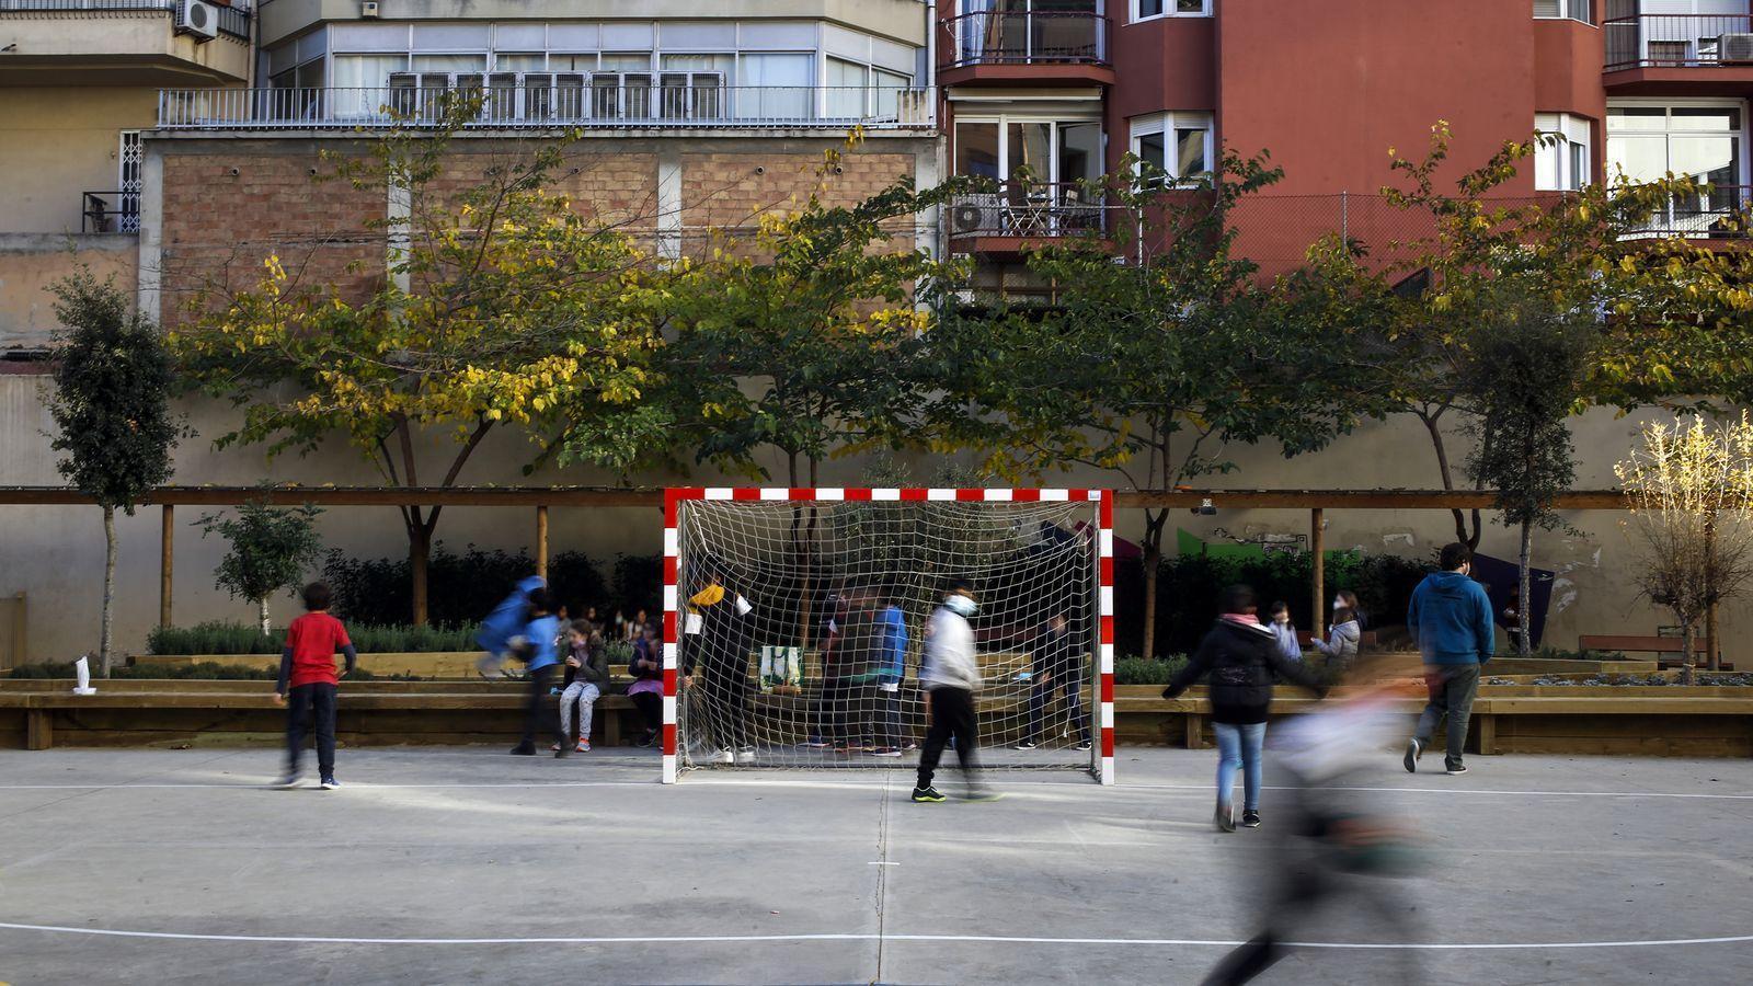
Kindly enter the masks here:
[[1108, 18], [1076, 11], [983, 11], [943, 21], [938, 81], [1113, 84]]

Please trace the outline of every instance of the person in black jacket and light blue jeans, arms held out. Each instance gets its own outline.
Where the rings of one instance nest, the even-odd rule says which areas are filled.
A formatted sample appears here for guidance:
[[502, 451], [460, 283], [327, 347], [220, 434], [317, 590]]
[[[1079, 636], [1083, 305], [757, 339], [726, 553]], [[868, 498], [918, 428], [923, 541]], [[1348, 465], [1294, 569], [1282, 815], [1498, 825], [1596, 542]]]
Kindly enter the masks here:
[[1317, 693], [1325, 689], [1308, 667], [1278, 653], [1273, 632], [1260, 626], [1255, 616], [1253, 589], [1224, 589], [1222, 612], [1182, 674], [1162, 689], [1162, 697], [1175, 698], [1194, 681], [1210, 675], [1211, 728], [1218, 749], [1215, 821], [1218, 830], [1236, 832], [1231, 791], [1238, 767], [1243, 779], [1241, 823], [1248, 828], [1260, 825], [1260, 746], [1266, 742], [1266, 718], [1273, 707], [1276, 677]]

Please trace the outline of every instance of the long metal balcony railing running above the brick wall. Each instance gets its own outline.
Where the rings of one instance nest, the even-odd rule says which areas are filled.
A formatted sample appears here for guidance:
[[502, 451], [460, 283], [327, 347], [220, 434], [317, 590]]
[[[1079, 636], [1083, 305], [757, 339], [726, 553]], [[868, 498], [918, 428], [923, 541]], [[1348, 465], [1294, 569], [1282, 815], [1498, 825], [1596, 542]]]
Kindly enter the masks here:
[[160, 89], [163, 130], [356, 130], [436, 126], [461, 96], [466, 126], [593, 130], [929, 130], [931, 89], [857, 86], [375, 86], [356, 89]]

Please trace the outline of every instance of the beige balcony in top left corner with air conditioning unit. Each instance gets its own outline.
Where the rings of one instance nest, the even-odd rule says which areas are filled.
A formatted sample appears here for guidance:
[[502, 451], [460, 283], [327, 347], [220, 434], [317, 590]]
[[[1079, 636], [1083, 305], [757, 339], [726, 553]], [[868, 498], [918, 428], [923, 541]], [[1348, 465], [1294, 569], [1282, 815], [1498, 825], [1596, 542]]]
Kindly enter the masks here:
[[[212, 14], [210, 18], [207, 14]], [[0, 86], [224, 84], [249, 77], [249, 0], [0, 0]]]

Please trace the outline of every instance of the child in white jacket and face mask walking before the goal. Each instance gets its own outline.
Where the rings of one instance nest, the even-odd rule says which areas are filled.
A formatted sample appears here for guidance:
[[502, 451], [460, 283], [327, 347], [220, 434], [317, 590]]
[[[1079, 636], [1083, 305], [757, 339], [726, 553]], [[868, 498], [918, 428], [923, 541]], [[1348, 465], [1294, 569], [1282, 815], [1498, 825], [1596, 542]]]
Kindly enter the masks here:
[[997, 797], [975, 781], [975, 770], [980, 768], [976, 756], [980, 714], [975, 707], [980, 661], [975, 656], [975, 630], [968, 623], [975, 609], [978, 607], [973, 582], [954, 579], [947, 586], [943, 605], [931, 614], [931, 623], [926, 626], [926, 660], [919, 668], [919, 682], [926, 688], [931, 728], [919, 753], [919, 781], [913, 784], [913, 800], [919, 804], [948, 800], [931, 786], [931, 777], [950, 737], [955, 737], [955, 756], [968, 779], [968, 800], [983, 802]]

